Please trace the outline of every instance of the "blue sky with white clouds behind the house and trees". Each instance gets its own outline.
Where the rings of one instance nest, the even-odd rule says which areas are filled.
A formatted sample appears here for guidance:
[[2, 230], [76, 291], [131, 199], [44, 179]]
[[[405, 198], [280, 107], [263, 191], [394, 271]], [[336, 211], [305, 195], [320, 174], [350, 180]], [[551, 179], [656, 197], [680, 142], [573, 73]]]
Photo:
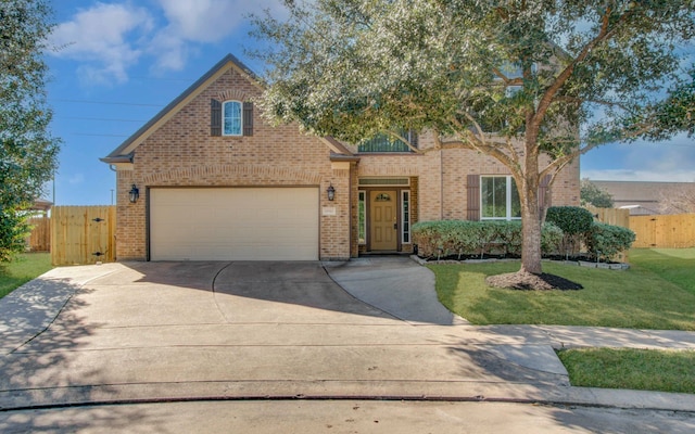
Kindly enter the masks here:
[[[283, 16], [278, 0], [53, 0], [47, 54], [59, 168], [45, 197], [55, 205], [110, 205], [115, 173], [99, 161], [228, 53], [251, 69], [250, 13]], [[694, 139], [610, 144], [581, 158], [595, 180], [695, 181]]]

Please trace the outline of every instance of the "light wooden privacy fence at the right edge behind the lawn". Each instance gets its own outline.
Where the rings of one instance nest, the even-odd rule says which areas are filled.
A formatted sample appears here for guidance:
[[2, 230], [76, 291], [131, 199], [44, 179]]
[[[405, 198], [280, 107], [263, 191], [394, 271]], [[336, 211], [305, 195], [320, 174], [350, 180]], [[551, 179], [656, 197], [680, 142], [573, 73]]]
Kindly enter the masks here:
[[630, 229], [636, 239], [636, 248], [684, 248], [695, 247], [695, 214], [633, 216]]

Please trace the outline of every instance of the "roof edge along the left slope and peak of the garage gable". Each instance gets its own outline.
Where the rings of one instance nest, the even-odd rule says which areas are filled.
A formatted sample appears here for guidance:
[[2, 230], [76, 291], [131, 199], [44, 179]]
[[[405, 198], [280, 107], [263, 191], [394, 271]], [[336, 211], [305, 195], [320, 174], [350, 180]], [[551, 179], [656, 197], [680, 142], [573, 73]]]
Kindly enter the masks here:
[[[217, 62], [215, 66], [213, 66], [205, 75], [200, 77], [195, 82], [189, 86], [181, 94], [179, 94], [174, 101], [168, 103], [164, 108], [162, 108], [153, 118], [151, 118], [147, 124], [140, 127], [136, 132], [134, 132], [129, 138], [127, 138], [118, 148], [113, 150], [106, 157], [100, 158], [104, 163], [111, 163], [112, 158], [116, 158], [123, 156], [126, 153], [130, 153], [132, 149], [130, 146], [137, 146], [139, 144], [140, 139], [148, 133], [148, 131], [154, 127], [160, 120], [166, 117], [169, 113], [172, 113], [180, 103], [186, 101], [189, 97], [194, 94], [208, 79], [217, 75], [220, 71], [224, 71], [227, 64], [231, 63], [232, 66], [240, 69], [242, 73], [247, 74], [257, 86], [262, 87], [263, 81], [261, 78], [255, 75], [247, 65], [244, 65], [239, 59], [237, 59], [233, 54], [227, 54], [223, 60]], [[118, 163], [124, 163], [123, 161]]]

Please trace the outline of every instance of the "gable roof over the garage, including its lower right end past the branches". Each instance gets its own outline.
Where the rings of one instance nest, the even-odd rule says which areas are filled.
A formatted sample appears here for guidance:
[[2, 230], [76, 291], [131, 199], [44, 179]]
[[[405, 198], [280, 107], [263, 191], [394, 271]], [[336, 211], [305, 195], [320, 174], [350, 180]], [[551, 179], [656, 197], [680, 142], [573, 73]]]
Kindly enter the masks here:
[[[160, 113], [144, 124], [140, 129], [135, 131], [132, 136], [127, 138], [118, 148], [113, 150], [109, 155], [100, 161], [112, 165], [131, 165], [132, 153], [152, 132], [154, 132], [164, 123], [178, 113], [187, 103], [198, 97], [208, 84], [215, 81], [219, 76], [230, 68], [236, 68], [242, 75], [245, 75], [251, 82], [258, 88], [263, 88], [263, 80], [256, 76], [247, 65], [244, 65], [233, 54], [227, 54], [223, 60], [217, 62], [205, 75], [200, 77], [188, 89], [178, 95], [174, 101], [168, 103]], [[332, 138], [323, 138], [328, 148], [340, 154], [352, 154], [342, 143]]]

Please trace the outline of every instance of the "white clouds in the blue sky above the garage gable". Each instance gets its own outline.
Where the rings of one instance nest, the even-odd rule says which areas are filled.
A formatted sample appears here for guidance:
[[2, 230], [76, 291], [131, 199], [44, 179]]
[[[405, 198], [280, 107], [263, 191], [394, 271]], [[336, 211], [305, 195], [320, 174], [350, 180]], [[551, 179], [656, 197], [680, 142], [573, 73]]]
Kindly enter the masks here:
[[[156, 71], [179, 71], [203, 44], [228, 38], [249, 14], [270, 10], [286, 16], [279, 0], [153, 0], [94, 2], [59, 24], [51, 43], [55, 56], [80, 62], [77, 72], [89, 84], [125, 82], [128, 71], [146, 56]], [[157, 8], [159, 7], [159, 8]]]

